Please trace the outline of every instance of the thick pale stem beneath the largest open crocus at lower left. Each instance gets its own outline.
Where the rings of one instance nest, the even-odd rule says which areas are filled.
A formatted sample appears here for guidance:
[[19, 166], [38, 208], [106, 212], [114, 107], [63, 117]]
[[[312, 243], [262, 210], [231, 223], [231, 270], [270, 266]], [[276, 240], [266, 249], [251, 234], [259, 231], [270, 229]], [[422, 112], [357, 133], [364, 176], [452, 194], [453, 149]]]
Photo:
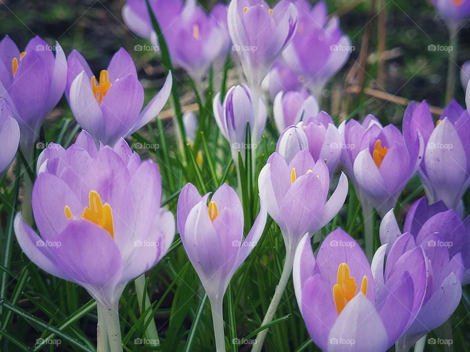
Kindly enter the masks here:
[[121, 328], [118, 303], [108, 305], [97, 302], [98, 346], [97, 352], [122, 352]]

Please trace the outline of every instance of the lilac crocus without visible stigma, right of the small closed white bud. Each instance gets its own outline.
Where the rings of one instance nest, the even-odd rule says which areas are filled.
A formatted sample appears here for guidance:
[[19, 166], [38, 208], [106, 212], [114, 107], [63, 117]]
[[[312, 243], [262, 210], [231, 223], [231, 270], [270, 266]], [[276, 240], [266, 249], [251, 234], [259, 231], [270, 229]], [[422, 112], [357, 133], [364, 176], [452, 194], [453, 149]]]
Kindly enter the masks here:
[[339, 164], [343, 138], [329, 114], [320, 111], [310, 117], [306, 115], [297, 126], [305, 132], [313, 159], [325, 161], [332, 176]]

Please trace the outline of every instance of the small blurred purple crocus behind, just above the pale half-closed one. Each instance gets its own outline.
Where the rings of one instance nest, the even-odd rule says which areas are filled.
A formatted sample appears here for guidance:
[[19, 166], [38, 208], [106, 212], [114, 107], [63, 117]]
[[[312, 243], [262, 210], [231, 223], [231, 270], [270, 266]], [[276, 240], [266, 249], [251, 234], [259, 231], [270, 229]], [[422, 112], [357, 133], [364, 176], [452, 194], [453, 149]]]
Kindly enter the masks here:
[[274, 100], [280, 91], [300, 90], [302, 88], [301, 77], [292, 68], [277, 61], [264, 78], [262, 88]]

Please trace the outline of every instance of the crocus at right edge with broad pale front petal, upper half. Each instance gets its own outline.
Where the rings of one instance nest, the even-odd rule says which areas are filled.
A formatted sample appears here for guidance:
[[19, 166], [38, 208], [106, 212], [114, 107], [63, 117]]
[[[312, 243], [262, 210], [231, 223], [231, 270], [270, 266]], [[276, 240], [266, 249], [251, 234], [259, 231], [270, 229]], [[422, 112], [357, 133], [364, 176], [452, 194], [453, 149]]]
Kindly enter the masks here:
[[456, 208], [470, 184], [470, 117], [456, 101], [450, 102], [434, 124], [425, 101], [411, 102], [403, 116], [403, 136], [416, 153], [417, 140], [424, 141], [418, 173], [429, 202], [444, 201]]

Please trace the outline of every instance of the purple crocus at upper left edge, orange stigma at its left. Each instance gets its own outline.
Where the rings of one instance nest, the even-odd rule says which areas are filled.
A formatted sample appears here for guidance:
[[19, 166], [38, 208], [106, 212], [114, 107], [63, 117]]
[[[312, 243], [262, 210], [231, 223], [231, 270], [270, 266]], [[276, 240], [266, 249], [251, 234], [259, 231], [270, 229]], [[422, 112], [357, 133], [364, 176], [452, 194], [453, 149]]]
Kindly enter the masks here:
[[20, 53], [5, 36], [0, 42], [0, 66], [0, 97], [8, 101], [20, 125], [20, 147], [29, 160], [44, 118], [64, 94], [65, 53], [59, 43], [51, 47], [40, 37], [31, 39]]

